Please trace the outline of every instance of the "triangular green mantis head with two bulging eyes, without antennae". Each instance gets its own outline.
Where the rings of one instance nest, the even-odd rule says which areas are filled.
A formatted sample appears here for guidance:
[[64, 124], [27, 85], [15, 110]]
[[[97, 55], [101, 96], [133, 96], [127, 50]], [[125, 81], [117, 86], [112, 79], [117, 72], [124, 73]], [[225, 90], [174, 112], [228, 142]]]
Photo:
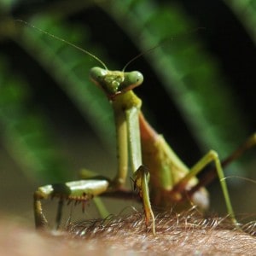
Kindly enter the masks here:
[[138, 71], [110, 71], [102, 67], [92, 67], [90, 79], [105, 92], [109, 99], [113, 99], [142, 84], [143, 74]]

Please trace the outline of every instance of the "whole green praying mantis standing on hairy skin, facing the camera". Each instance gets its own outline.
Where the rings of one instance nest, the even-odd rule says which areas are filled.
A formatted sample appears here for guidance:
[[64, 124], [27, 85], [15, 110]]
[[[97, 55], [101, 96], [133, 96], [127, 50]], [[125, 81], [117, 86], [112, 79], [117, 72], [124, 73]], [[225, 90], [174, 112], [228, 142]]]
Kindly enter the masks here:
[[[57, 213], [57, 221], [59, 222], [63, 201], [85, 202], [98, 195], [119, 194], [125, 185], [127, 173], [131, 167], [134, 188], [143, 202], [146, 226], [150, 226], [155, 235], [156, 227], [152, 206], [166, 210], [175, 205], [175, 209], [178, 211], [191, 207], [192, 204], [200, 207], [202, 211], [207, 210], [209, 204], [207, 189], [201, 186], [196, 175], [212, 162], [218, 173], [227, 212], [232, 222], [239, 226], [230, 202], [230, 195], [218, 154], [210, 150], [195, 166], [189, 168], [178, 158], [164, 137], [154, 131], [144, 118], [141, 110], [142, 100], [133, 92], [137, 86], [143, 84], [142, 73], [137, 71], [125, 72], [125, 68], [123, 71], [110, 71], [98, 57], [89, 51], [48, 32], [44, 33], [72, 45], [102, 64], [103, 68], [92, 67], [90, 69], [90, 79], [105, 93], [113, 108], [117, 137], [118, 171], [112, 180], [108, 177], [90, 177], [39, 187], [34, 193], [33, 203], [37, 228], [44, 228], [48, 225], [44, 216], [42, 200], [53, 197], [60, 198], [60, 207]], [[255, 143], [256, 134], [249, 137], [247, 142], [231, 154], [224, 164], [234, 160], [247, 148], [253, 147]]]

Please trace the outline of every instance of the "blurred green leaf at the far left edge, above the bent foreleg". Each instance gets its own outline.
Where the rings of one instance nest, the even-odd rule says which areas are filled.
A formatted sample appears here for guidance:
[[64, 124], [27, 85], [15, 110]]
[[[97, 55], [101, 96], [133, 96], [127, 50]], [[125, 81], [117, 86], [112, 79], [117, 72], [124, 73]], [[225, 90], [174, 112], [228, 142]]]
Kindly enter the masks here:
[[70, 177], [67, 164], [53, 143], [47, 119], [27, 104], [29, 87], [23, 79], [14, 77], [2, 58], [0, 69], [0, 123], [5, 147], [27, 177], [42, 183], [66, 180]]

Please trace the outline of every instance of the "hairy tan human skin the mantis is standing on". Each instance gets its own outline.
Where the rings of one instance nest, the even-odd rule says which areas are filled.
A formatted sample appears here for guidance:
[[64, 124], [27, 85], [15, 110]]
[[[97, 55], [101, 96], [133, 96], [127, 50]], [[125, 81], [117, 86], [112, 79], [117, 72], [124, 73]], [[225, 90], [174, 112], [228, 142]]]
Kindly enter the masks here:
[[[228, 218], [201, 218], [195, 210], [156, 217], [156, 236], [141, 213], [68, 224], [67, 231], [36, 231], [1, 221], [1, 255], [255, 255], [256, 239]], [[244, 228], [246, 226], [244, 225]], [[255, 224], [247, 224], [253, 234]], [[254, 231], [255, 232], [255, 231]]]

